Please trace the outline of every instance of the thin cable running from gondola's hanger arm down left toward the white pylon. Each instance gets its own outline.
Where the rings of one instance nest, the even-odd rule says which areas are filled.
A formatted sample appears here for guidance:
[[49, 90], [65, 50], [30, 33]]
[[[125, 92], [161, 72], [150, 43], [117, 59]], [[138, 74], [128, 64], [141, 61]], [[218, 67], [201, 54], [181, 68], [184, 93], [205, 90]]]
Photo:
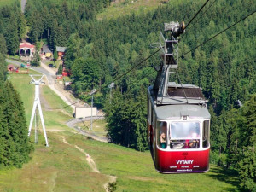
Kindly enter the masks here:
[[[159, 52], [159, 49], [157, 49], [153, 54], [151, 54], [151, 55], [149, 55], [148, 57], [146, 57], [145, 59], [143, 59], [143, 61], [140, 61], [139, 63], [137, 63], [137, 65], [135, 65], [134, 67], [131, 67], [131, 68], [130, 68], [129, 70], [127, 70], [125, 73], [120, 74], [117, 78], [113, 79], [113, 82], [115, 82], [115, 81], [121, 79], [121, 78], [124, 77], [127, 73], [130, 73], [132, 70], [134, 70], [135, 68], [137, 68], [137, 67], [138, 67], [139, 65], [141, 65], [144, 61], [147, 61], [150, 57], [152, 57], [153, 55], [155, 55], [157, 52]], [[99, 90], [102, 90], [102, 89], [105, 88], [105, 87], [108, 87], [108, 84], [104, 84], [102, 87], [100, 87], [99, 89], [97, 89], [97, 90], [94, 92], [94, 94], [95, 94], [96, 92], [98, 92]], [[86, 95], [86, 96], [89, 97], [90, 95]], [[87, 98], [87, 97], [85, 97], [85, 98]], [[81, 101], [82, 101], [82, 100], [79, 100], [78, 102], [81, 102]], [[70, 107], [70, 106], [72, 106], [72, 105], [74, 105], [74, 104], [76, 104], [76, 103], [78, 103], [78, 102], [73, 102], [73, 103], [71, 103], [71, 104], [69, 104], [69, 105], [66, 105], [66, 106], [64, 106], [64, 107], [61, 107], [61, 108], [47, 108], [47, 109], [56, 110], [56, 109], [68, 108], [68, 107]]]

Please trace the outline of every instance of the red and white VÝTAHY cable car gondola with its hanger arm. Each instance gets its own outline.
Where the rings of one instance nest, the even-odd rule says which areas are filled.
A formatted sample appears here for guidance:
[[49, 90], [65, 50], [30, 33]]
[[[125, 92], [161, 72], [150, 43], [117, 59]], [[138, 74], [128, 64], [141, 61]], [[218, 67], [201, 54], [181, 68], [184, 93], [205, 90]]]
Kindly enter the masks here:
[[[178, 36], [184, 24], [165, 23], [160, 32], [160, 60], [154, 85], [148, 87], [148, 145], [155, 169], [162, 173], [207, 172], [210, 154], [210, 113], [201, 88], [176, 84]], [[178, 77], [179, 79], [179, 77]], [[180, 80], [179, 80], [180, 81]]]

